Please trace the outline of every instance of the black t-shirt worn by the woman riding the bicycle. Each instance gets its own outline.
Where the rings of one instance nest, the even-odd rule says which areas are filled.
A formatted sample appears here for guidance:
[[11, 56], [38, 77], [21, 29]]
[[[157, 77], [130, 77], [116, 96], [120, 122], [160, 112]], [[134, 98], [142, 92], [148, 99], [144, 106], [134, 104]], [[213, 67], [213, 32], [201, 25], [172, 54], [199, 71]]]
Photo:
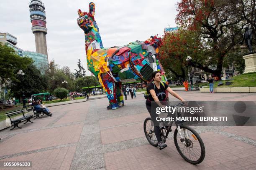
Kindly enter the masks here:
[[[147, 92], [148, 92], [148, 100], [150, 101], [154, 101], [152, 95], [150, 94], [150, 90], [155, 90], [156, 92], [156, 96], [158, 97], [159, 101], [164, 101], [166, 99], [166, 92], [165, 90], [169, 87], [166, 83], [164, 83], [164, 86], [162, 85], [162, 83], [160, 83], [160, 89], [158, 89], [156, 87], [156, 85], [154, 86], [153, 84], [154, 82], [151, 82], [148, 84], [148, 87], [147, 87]], [[146, 100], [146, 105], [151, 105], [151, 102]]]

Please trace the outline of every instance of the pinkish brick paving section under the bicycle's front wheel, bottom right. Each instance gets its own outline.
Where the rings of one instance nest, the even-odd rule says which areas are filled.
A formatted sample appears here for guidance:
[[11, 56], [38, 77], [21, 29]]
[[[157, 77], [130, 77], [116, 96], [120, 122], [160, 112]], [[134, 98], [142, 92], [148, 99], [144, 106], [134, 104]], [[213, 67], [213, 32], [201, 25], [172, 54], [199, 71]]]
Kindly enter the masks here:
[[[105, 153], [107, 170], [118, 169], [179, 169], [204, 170], [213, 169], [241, 169], [242, 167], [256, 168], [256, 150], [254, 146], [223, 137], [212, 132], [200, 134], [204, 140], [206, 156], [203, 163], [192, 165], [183, 160], [177, 152], [174, 141], [168, 140], [164, 150], [151, 145], [138, 146], [112, 153]], [[232, 151], [232, 152], [230, 152]], [[232, 168], [231, 168], [232, 167]]]

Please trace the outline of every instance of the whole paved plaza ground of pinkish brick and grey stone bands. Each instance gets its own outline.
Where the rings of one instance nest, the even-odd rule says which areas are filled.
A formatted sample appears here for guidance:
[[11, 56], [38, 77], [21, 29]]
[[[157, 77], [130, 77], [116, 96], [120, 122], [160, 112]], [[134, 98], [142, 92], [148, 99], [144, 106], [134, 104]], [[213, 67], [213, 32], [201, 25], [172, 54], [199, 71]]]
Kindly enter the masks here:
[[[256, 93], [176, 92], [185, 100], [256, 101]], [[163, 150], [148, 144], [145, 99], [127, 98], [118, 110], [106, 110], [106, 97], [49, 107], [52, 117], [0, 131], [0, 161], [32, 161], [31, 168], [0, 170], [256, 170], [255, 126], [194, 126], [206, 155], [192, 165], [176, 150], [173, 132]]]

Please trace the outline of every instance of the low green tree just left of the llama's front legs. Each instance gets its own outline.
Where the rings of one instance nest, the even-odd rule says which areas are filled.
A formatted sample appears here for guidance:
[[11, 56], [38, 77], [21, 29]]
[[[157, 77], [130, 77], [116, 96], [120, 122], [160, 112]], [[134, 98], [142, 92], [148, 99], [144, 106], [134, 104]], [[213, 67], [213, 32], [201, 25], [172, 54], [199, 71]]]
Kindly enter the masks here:
[[94, 76], [80, 77], [75, 80], [76, 91], [81, 90], [82, 87], [100, 85], [99, 80]]

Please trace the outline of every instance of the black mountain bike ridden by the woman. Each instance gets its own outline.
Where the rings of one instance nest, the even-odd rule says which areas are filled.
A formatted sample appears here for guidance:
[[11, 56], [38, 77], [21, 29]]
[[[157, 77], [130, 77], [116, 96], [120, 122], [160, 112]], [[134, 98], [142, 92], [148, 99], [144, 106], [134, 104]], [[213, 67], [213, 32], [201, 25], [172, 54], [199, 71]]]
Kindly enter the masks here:
[[[178, 105], [174, 105], [172, 107], [184, 106], [184, 103], [181, 102]], [[174, 117], [181, 117], [180, 112], [174, 112], [172, 115]], [[166, 138], [170, 132], [172, 132], [172, 124], [175, 122], [176, 129], [174, 131], [174, 144], [179, 154], [182, 156], [184, 160], [191, 164], [199, 164], [205, 158], [205, 145], [200, 137], [200, 135], [189, 126], [183, 125], [182, 121], [169, 121], [167, 125], [161, 125], [160, 123], [160, 137], [163, 143], [166, 142]], [[147, 117], [144, 120], [144, 133], [148, 142], [157, 147], [158, 141], [156, 139], [156, 135], [154, 133], [154, 122], [151, 120], [151, 117]], [[183, 148], [182, 148], [183, 146]], [[198, 150], [200, 149], [200, 150]], [[192, 157], [192, 158], [190, 158]]]

